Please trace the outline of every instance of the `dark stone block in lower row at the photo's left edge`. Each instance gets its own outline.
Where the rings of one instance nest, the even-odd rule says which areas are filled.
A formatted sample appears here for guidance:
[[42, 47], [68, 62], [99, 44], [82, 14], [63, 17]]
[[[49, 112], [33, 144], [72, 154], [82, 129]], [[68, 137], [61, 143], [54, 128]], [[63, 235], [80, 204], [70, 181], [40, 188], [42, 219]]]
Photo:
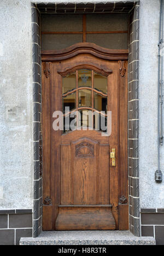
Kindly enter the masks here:
[[15, 244], [15, 230], [6, 229], [0, 230], [0, 245], [14, 245]]

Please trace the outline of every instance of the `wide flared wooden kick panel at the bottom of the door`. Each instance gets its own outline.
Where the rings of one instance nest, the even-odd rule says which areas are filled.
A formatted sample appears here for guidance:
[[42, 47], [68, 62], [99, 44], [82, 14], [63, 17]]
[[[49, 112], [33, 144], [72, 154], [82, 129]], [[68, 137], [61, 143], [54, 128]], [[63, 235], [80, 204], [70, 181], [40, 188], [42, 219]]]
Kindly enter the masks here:
[[112, 205], [60, 205], [56, 230], [115, 230]]

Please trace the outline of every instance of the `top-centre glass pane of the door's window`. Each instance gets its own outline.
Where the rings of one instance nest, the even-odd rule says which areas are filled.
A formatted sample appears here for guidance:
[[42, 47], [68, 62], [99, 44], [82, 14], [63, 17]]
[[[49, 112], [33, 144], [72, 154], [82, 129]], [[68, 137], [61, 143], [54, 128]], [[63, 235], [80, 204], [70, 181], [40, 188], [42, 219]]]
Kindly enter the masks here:
[[78, 70], [78, 87], [82, 86], [92, 87], [92, 70]]

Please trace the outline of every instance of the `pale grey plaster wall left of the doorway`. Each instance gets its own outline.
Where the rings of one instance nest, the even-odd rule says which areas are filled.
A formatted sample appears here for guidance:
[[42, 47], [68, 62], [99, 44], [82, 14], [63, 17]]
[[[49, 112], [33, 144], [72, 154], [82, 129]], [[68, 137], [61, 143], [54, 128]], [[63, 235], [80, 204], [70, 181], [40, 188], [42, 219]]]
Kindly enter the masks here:
[[32, 208], [31, 5], [0, 8], [0, 209]]

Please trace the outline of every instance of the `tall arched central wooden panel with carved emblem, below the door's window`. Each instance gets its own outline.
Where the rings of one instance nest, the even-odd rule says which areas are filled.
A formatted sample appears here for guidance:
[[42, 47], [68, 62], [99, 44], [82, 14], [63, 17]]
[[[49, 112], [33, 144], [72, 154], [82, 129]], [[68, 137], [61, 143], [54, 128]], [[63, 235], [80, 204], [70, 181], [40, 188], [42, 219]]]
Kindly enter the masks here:
[[71, 144], [72, 203], [98, 203], [98, 142], [80, 138]]

